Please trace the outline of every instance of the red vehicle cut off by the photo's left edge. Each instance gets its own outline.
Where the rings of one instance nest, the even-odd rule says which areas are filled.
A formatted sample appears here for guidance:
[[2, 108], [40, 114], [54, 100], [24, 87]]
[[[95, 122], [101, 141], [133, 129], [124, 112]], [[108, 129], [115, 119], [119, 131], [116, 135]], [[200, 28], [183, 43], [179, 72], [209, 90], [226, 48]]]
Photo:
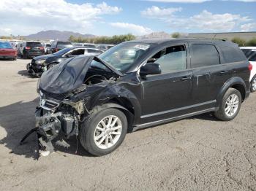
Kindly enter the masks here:
[[0, 42], [0, 58], [10, 58], [13, 61], [17, 59], [17, 51], [10, 42]]

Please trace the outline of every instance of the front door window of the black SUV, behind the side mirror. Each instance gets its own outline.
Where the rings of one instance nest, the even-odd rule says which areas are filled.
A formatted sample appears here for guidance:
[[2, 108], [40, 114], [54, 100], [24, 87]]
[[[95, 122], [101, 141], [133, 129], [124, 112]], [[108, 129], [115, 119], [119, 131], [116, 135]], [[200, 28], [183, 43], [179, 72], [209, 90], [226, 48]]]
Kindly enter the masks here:
[[162, 74], [187, 69], [187, 55], [184, 45], [166, 47], [148, 59], [148, 63], [158, 63]]

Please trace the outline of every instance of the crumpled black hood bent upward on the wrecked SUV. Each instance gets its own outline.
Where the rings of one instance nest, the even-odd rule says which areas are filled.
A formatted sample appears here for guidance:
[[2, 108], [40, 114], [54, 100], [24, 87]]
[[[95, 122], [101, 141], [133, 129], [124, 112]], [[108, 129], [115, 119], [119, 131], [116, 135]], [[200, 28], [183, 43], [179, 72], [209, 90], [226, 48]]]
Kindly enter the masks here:
[[94, 56], [78, 56], [59, 63], [42, 74], [39, 87], [49, 93], [68, 93], [83, 85]]

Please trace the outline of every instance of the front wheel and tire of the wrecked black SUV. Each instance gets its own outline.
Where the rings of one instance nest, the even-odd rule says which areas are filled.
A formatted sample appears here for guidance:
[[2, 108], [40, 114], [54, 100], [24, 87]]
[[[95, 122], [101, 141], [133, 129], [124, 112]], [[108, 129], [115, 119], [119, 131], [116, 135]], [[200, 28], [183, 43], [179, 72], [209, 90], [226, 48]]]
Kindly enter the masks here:
[[80, 125], [80, 143], [91, 155], [108, 155], [117, 149], [127, 134], [127, 117], [118, 109], [91, 114]]

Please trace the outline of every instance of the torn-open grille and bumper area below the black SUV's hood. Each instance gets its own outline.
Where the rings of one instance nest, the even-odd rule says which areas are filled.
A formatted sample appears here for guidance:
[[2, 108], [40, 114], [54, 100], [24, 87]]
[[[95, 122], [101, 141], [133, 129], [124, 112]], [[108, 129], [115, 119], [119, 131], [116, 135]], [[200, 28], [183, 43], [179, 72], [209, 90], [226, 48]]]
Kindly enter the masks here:
[[40, 92], [39, 107], [35, 115], [39, 148], [48, 155], [54, 151], [53, 142], [69, 147], [62, 138], [78, 136], [80, 114], [83, 114], [83, 109], [80, 109], [83, 106], [80, 104], [83, 104], [83, 101], [79, 101], [80, 104], [70, 101], [64, 104], [65, 101], [53, 101], [52, 98], [47, 98], [47, 95], [48, 93]]

